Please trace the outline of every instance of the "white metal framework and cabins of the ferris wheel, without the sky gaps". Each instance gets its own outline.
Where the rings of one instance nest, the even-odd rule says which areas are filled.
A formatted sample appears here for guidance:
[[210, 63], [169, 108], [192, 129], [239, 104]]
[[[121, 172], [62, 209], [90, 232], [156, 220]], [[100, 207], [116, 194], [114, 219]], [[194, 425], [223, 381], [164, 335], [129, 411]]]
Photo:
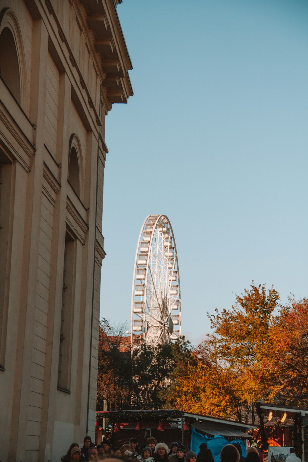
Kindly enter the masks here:
[[[158, 224], [160, 224], [161, 222], [163, 222], [164, 225], [167, 226], [167, 231], [163, 231], [163, 227], [162, 227], [162, 231], [159, 231]], [[141, 250], [140, 250], [141, 249], [141, 243], [145, 242], [142, 239], [142, 236], [143, 236], [144, 231], [148, 231], [148, 233], [149, 233], [149, 230], [146, 230], [146, 227], [145, 227], [147, 224], [151, 224], [151, 225], [153, 224], [153, 226], [152, 226], [152, 230], [150, 230], [151, 231], [151, 238], [148, 241], [149, 242], [148, 251], [147, 252], [143, 251], [143, 254], [142, 254]], [[168, 231], [168, 228], [169, 228], [169, 231]], [[172, 279], [172, 277], [170, 278], [170, 280], [168, 280], [168, 287], [167, 287], [167, 283], [166, 283], [165, 289], [166, 289], [166, 300], [168, 301], [168, 313], [167, 313], [167, 317], [163, 320], [163, 322], [162, 322], [163, 310], [162, 310], [162, 307], [160, 306], [162, 304], [162, 303], [160, 303], [161, 298], [159, 298], [159, 296], [157, 296], [157, 292], [156, 292], [156, 289], [155, 289], [155, 282], [153, 280], [153, 275], [152, 275], [152, 269], [153, 268], [151, 269], [152, 261], [150, 259], [150, 256], [153, 255], [153, 253], [152, 253], [153, 240], [156, 237], [156, 235], [158, 235], [158, 233], [160, 233], [160, 232], [162, 234], [161, 241], [162, 241], [162, 245], [163, 245], [163, 252], [167, 252], [167, 251], [169, 251], [169, 249], [174, 249], [174, 256], [173, 257], [170, 257], [170, 256], [167, 256], [167, 255], [163, 254], [164, 262], [165, 263], [168, 262], [168, 267], [163, 268], [162, 271], [165, 271], [165, 270], [167, 271], [167, 273], [166, 273], [166, 278], [167, 278], [166, 281], [168, 280], [170, 272], [172, 274], [172, 277], [175, 277], [175, 280]], [[169, 234], [169, 244], [168, 244], [169, 247], [164, 247], [164, 242], [165, 242], [166, 237], [163, 237], [163, 233], [168, 233]], [[171, 246], [170, 246], [170, 243], [172, 243]], [[158, 248], [158, 244], [157, 244], [157, 248]], [[139, 255], [147, 255], [146, 264], [139, 264]], [[173, 262], [172, 267], [170, 267], [171, 262]], [[138, 274], [137, 270], [138, 269], [144, 270], [145, 278], [142, 278], [142, 279], [137, 278], [137, 274]], [[157, 270], [157, 268], [156, 268], [156, 270]], [[174, 273], [175, 273], [175, 276], [174, 276]], [[157, 276], [156, 276], [156, 278], [157, 278]], [[144, 281], [144, 284], [141, 284], [142, 281]], [[155, 296], [156, 296], [155, 303], [156, 303], [156, 305], [158, 305], [158, 308], [159, 308], [159, 311], [160, 311], [160, 314], [161, 314], [161, 316], [159, 315], [159, 317], [160, 317], [159, 321], [157, 319], [157, 313], [156, 313], [156, 317], [153, 316], [154, 309], [153, 309], [153, 312], [152, 312], [151, 304], [149, 306], [149, 304], [147, 303], [148, 291], [150, 291], [150, 284], [154, 288], [154, 291], [153, 291], [153, 288], [151, 289], [151, 293], [152, 293], [152, 295], [154, 293]], [[176, 286], [174, 286], [173, 284], [176, 284]], [[135, 291], [135, 286], [136, 285], [144, 286], [143, 295], [139, 295], [139, 296], [136, 295], [136, 291]], [[172, 305], [170, 304], [170, 306], [169, 306], [171, 287], [177, 287], [177, 294], [172, 295], [172, 303], [173, 304]], [[141, 307], [143, 307], [143, 312], [142, 313], [137, 313], [137, 312], [134, 311], [134, 302], [136, 302], [136, 301], [138, 303], [140, 303]], [[176, 302], [177, 302], [177, 304], [176, 304]], [[178, 308], [176, 308], [176, 306], [178, 306]], [[157, 311], [157, 308], [156, 308], [156, 311]], [[133, 345], [133, 336], [138, 335], [138, 334], [139, 335], [142, 334], [145, 342], [151, 344], [152, 346], [157, 345], [158, 343], [160, 343], [160, 341], [161, 342], [166, 341], [166, 326], [167, 326], [168, 322], [170, 323], [169, 319], [172, 320], [172, 316], [173, 316], [173, 319], [175, 319], [175, 317], [178, 316], [177, 323], [175, 324], [176, 327], [178, 327], [178, 330], [176, 331], [177, 333], [175, 334], [175, 331], [170, 333], [169, 329], [168, 329], [168, 331], [167, 331], [168, 332], [167, 341], [177, 340], [178, 338], [181, 337], [181, 286], [180, 286], [180, 273], [179, 273], [179, 265], [178, 265], [175, 237], [174, 237], [174, 233], [173, 233], [171, 223], [170, 223], [170, 221], [169, 221], [169, 219], [168, 219], [168, 217], [166, 215], [148, 215], [146, 217], [145, 221], [143, 222], [143, 225], [142, 225], [140, 233], [139, 233], [139, 239], [138, 239], [138, 243], [137, 243], [136, 254], [135, 254], [135, 262], [134, 262], [133, 284], [132, 284], [132, 301], [131, 301], [131, 329], [130, 329], [132, 345]], [[138, 331], [134, 330], [134, 323], [133, 323], [134, 320], [141, 320], [141, 322], [140, 322], [141, 330], [140, 329]], [[152, 323], [151, 323], [151, 321], [152, 321]], [[157, 321], [162, 326], [161, 328], [157, 326]], [[155, 324], [156, 324], [156, 326], [155, 326]], [[172, 324], [172, 328], [173, 328], [173, 323], [171, 323], [171, 324]], [[150, 325], [150, 328], [146, 331], [146, 326], [147, 325]], [[157, 329], [157, 330], [160, 329], [160, 334], [157, 334], [156, 338], [155, 338], [155, 335], [153, 334], [155, 329]], [[163, 337], [161, 338], [162, 335], [163, 335]]]

